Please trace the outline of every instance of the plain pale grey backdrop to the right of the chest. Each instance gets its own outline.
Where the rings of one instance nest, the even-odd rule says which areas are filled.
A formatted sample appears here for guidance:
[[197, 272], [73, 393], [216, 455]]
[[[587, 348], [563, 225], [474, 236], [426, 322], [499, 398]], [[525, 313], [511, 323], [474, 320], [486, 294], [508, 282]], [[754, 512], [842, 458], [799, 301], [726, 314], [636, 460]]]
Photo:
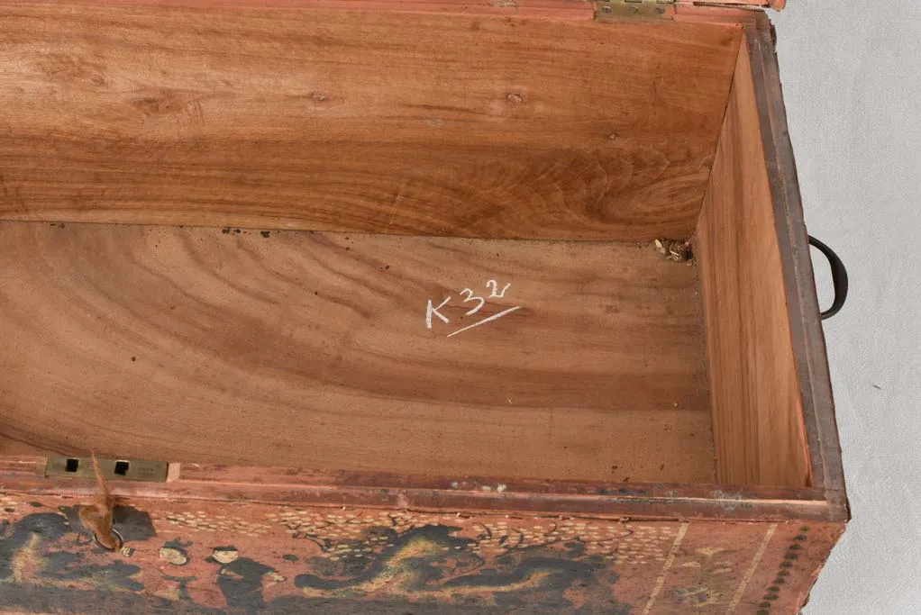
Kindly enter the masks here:
[[851, 283], [825, 338], [854, 518], [805, 612], [921, 613], [921, 0], [771, 17], [806, 223]]

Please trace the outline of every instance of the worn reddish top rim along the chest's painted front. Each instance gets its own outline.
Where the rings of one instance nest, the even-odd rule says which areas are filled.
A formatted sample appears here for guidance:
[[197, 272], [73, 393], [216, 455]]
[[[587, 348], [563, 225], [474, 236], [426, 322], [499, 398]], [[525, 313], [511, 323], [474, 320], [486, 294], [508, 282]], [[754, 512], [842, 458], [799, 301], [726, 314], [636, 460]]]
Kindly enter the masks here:
[[[90, 481], [43, 478], [44, 458], [0, 459], [0, 492], [89, 496]], [[716, 518], [842, 521], [835, 493], [817, 489], [736, 489], [721, 485], [458, 481], [379, 473], [181, 464], [169, 482], [111, 482], [123, 498], [167, 498], [284, 505], [380, 506], [507, 514], [612, 518]]]

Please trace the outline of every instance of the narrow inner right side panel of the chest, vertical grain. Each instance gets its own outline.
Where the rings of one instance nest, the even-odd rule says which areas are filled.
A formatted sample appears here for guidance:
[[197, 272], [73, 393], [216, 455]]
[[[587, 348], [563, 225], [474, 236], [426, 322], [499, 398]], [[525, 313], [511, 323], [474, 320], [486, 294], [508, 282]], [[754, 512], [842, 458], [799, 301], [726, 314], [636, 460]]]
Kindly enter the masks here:
[[717, 480], [809, 486], [787, 288], [747, 48], [697, 231]]

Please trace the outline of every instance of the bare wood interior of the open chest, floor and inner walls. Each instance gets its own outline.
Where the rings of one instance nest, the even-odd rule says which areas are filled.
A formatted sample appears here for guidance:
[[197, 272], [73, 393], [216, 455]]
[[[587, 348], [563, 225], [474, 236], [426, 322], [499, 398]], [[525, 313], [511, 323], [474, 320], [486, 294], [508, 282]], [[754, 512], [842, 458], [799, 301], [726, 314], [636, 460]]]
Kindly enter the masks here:
[[0, 3], [0, 452], [810, 486], [745, 20], [474, 8]]

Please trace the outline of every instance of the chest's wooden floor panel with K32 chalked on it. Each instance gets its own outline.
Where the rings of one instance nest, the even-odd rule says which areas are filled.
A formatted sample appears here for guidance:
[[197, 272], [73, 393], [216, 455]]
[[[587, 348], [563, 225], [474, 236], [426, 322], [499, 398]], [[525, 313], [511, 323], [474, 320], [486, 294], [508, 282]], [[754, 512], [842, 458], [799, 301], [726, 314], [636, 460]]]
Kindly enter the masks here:
[[648, 245], [35, 223], [0, 244], [7, 452], [713, 480], [696, 268]]

